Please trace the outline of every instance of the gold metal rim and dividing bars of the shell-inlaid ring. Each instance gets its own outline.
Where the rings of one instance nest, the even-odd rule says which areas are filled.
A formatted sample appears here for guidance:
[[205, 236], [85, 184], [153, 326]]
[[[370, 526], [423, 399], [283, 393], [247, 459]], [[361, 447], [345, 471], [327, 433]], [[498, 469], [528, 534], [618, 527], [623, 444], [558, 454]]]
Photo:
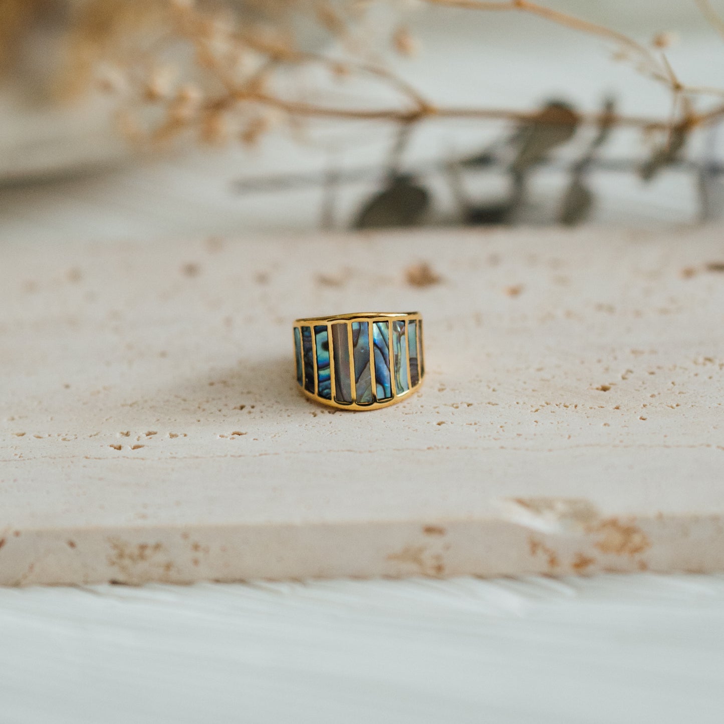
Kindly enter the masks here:
[[[330, 369], [330, 387], [332, 392], [332, 398], [327, 399], [327, 397], [320, 397], [317, 393], [317, 385], [318, 385], [318, 379], [317, 379], [317, 361], [316, 361], [316, 346], [313, 348], [313, 355], [314, 355], [314, 362], [313, 362], [313, 369], [314, 369], [314, 390], [315, 392], [309, 392], [309, 390], [304, 387], [304, 384], [300, 385], [300, 390], [303, 392], [305, 397], [308, 397], [310, 400], [313, 400], [316, 403], [320, 403], [321, 405], [327, 405], [327, 407], [332, 407], [335, 410], [348, 410], [350, 412], [365, 412], [369, 410], [379, 410], [379, 408], [384, 407], [390, 407], [390, 405], [396, 405], [397, 403], [402, 402], [403, 400], [406, 400], [408, 397], [413, 395], [414, 392], [417, 392], [417, 390], [421, 387], [421, 384], [424, 380], [424, 375], [422, 374], [422, 370], [418, 369], [418, 383], [415, 385], [411, 385], [408, 387], [407, 390], [404, 392], [397, 392], [396, 386], [395, 386], [395, 374], [394, 374], [394, 363], [393, 363], [393, 351], [392, 351], [392, 345], [390, 344], [390, 382], [392, 386], [392, 390], [394, 390], [392, 397], [388, 400], [382, 400], [382, 402], [377, 402], [376, 400], [372, 403], [366, 403], [366, 404], [359, 404], [356, 401], [351, 403], [338, 403], [337, 400], [334, 399], [334, 356], [333, 356], [333, 344], [332, 344], [332, 324], [340, 323], [340, 322], [349, 322], [350, 324], [355, 321], [368, 321], [370, 324], [374, 323], [375, 321], [399, 321], [401, 319], [404, 319], [405, 322], [408, 321], [422, 321], [422, 316], [419, 312], [353, 312], [348, 314], [333, 314], [330, 316], [321, 316], [321, 317], [300, 317], [299, 319], [295, 319], [294, 324], [292, 326], [292, 334], [294, 333], [295, 328], [299, 328], [299, 334], [300, 338], [302, 336], [302, 330], [301, 327], [311, 327], [313, 330], [314, 327], [317, 325], [319, 327], [321, 326], [328, 326], [329, 327], [329, 369]], [[405, 325], [406, 329], [406, 325]], [[392, 336], [392, 329], [390, 329], [390, 337]], [[405, 339], [407, 338], [407, 335], [405, 334]], [[417, 332], [417, 353], [418, 353], [418, 364], [422, 357], [422, 335], [420, 330], [418, 329]], [[312, 332], [312, 345], [316, 345], [316, 337]], [[350, 340], [350, 347], [351, 347], [351, 340]], [[374, 349], [374, 345], [370, 341], [370, 350]], [[303, 350], [302, 351], [303, 354]], [[410, 351], [408, 348], [408, 353], [405, 355], [407, 358], [407, 366], [408, 366], [408, 382], [411, 379], [410, 374]], [[370, 359], [370, 365], [371, 365], [371, 372], [374, 371], [374, 353], [371, 352], [371, 359]], [[351, 374], [352, 374], [352, 384], [354, 388], [354, 359], [353, 356], [350, 355], [350, 366], [351, 366]], [[374, 379], [374, 374], [373, 374]], [[374, 387], [374, 384], [373, 384]], [[353, 395], [354, 396], [354, 395]]]

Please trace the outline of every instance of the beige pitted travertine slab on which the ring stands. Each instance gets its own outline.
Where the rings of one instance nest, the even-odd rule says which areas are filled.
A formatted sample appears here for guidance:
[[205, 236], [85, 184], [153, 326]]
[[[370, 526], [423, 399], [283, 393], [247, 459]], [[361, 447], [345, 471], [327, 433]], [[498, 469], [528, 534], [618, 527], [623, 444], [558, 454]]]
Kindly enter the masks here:
[[[722, 229], [3, 251], [3, 584], [724, 570]], [[364, 309], [421, 391], [306, 400], [292, 321]]]

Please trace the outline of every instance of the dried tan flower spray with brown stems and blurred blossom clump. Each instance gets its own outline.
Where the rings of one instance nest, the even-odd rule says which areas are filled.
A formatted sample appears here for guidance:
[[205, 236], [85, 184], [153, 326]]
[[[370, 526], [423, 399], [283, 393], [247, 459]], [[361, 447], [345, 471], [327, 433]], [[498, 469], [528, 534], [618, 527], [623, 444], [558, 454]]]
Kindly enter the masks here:
[[[67, 0], [2, 0], [13, 12], [7, 14], [9, 28], [28, 14], [29, 7]], [[660, 34], [649, 47], [625, 33], [574, 17], [529, 0], [426, 0], [439, 7], [457, 7], [483, 12], [520, 12], [553, 22], [563, 28], [610, 42], [620, 56], [637, 70], [665, 85], [672, 93], [669, 118], [647, 118], [623, 114], [540, 114], [512, 109], [437, 106], [416, 88], [390, 71], [371, 62], [359, 51], [355, 39], [358, 4], [334, 4], [319, 0], [266, 0], [247, 7], [256, 16], [235, 17], [232, 4], [220, 0], [212, 5], [200, 0], [74, 0], [70, 4], [70, 63], [65, 75], [67, 90], [77, 92], [91, 75], [103, 75], [103, 87], [121, 93], [123, 122], [133, 138], [166, 141], [185, 131], [209, 142], [237, 138], [254, 143], [275, 123], [298, 125], [300, 119], [349, 119], [409, 125], [426, 119], [493, 119], [518, 125], [550, 126], [610, 123], [638, 127], [647, 132], [666, 130], [669, 143], [675, 130], [683, 135], [696, 127], [724, 117], [724, 103], [699, 111], [685, 98], [718, 96], [724, 89], [682, 83], [660, 52], [670, 38]], [[709, 0], [697, 0], [712, 25], [724, 34], [724, 21]], [[316, 18], [327, 33], [337, 38], [342, 56], [300, 50], [288, 22], [290, 9]], [[21, 17], [22, 16], [22, 17]], [[17, 24], [17, 23], [16, 23]], [[14, 26], [14, 25], [13, 25]], [[10, 33], [11, 31], [8, 31]], [[14, 32], [14, 31], [13, 31]], [[5, 33], [7, 35], [8, 33]], [[0, 35], [0, 54], [4, 35]], [[400, 27], [392, 35], [392, 46], [412, 54], [414, 38]], [[357, 50], [355, 50], [357, 48]], [[1, 59], [1, 55], [0, 55]], [[345, 103], [316, 100], [315, 88], [308, 93], [290, 92], [280, 79], [292, 68], [324, 69], [340, 80], [373, 78], [395, 91], [397, 101], [389, 106], [360, 107], [350, 98]], [[105, 69], [101, 74], [101, 69]]]

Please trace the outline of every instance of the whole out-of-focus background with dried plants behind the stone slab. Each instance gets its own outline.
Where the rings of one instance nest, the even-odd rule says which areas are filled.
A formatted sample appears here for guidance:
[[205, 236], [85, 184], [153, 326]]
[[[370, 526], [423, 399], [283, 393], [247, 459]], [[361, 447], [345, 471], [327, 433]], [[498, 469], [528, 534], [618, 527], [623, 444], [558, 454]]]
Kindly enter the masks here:
[[0, 240], [720, 218], [724, 7], [546, 7], [0, 0]]

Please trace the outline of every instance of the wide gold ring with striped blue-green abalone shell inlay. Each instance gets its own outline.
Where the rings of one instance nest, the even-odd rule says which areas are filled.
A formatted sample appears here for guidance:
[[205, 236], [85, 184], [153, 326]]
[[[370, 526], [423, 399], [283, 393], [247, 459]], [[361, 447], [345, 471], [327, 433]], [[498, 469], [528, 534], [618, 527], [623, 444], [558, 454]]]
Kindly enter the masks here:
[[343, 410], [400, 402], [417, 390], [425, 374], [417, 312], [297, 319], [294, 350], [304, 394]]

